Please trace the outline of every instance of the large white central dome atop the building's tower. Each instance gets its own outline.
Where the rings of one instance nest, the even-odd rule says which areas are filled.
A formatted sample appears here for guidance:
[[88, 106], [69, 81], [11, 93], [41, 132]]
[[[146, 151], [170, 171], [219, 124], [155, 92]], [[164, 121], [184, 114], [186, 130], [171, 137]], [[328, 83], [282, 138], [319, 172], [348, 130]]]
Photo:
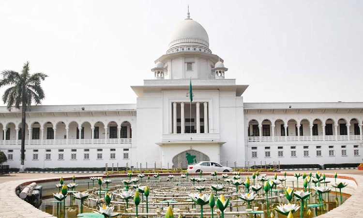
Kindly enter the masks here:
[[181, 45], [209, 48], [208, 33], [197, 21], [187, 18], [171, 31], [169, 37], [169, 49]]

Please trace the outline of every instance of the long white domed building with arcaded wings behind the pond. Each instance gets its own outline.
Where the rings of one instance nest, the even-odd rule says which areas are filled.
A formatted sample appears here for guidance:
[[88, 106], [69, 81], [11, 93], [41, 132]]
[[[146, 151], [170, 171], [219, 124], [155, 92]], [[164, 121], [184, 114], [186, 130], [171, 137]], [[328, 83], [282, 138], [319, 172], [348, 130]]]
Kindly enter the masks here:
[[[186, 167], [186, 156], [239, 166], [361, 162], [363, 103], [244, 103], [248, 85], [226, 79], [227, 70], [188, 13], [156, 59], [155, 78], [131, 87], [136, 104], [32, 106], [25, 166], [171, 168]], [[0, 107], [0, 150], [17, 168], [20, 122], [21, 110]]]

